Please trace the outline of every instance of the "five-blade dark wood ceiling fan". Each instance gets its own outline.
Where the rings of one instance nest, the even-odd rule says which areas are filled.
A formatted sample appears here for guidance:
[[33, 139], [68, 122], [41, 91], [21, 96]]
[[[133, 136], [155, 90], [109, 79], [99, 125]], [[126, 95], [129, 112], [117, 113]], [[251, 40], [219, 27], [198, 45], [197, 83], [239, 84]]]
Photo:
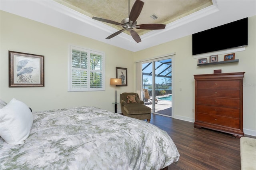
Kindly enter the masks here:
[[142, 10], [143, 5], [144, 5], [144, 2], [142, 2], [141, 0], [136, 0], [134, 2], [133, 6], [132, 6], [132, 10], [130, 12], [129, 18], [123, 19], [121, 21], [121, 23], [115, 22], [115, 21], [112, 21], [112, 20], [103, 19], [103, 18], [98, 18], [98, 17], [92, 17], [92, 19], [102, 21], [102, 22], [107, 22], [107, 23], [110, 23], [110, 24], [119, 25], [119, 26], [123, 27], [122, 30], [119, 30], [118, 32], [115, 32], [114, 34], [111, 34], [106, 39], [113, 38], [114, 36], [117, 36], [118, 34], [127, 30], [128, 32], [130, 32], [132, 38], [137, 43], [139, 43], [139, 42], [141, 42], [141, 39], [140, 39], [140, 36], [138, 35], [138, 33], [133, 30], [134, 28], [144, 29], [144, 30], [161, 30], [161, 29], [165, 28], [165, 24], [140, 24], [140, 25], [136, 25], [137, 24], [136, 20], [140, 15], [140, 12]]

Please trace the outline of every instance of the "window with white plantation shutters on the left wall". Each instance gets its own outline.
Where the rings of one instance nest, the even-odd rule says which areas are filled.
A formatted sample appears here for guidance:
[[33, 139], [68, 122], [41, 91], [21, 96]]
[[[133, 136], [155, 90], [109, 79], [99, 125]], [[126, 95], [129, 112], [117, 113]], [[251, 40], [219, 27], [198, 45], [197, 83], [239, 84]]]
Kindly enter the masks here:
[[104, 53], [70, 46], [68, 91], [105, 90]]

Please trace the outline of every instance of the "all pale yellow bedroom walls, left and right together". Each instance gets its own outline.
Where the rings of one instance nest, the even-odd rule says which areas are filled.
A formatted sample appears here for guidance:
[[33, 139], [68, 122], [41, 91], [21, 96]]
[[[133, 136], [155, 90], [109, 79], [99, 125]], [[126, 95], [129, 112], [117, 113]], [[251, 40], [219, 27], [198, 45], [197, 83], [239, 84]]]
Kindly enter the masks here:
[[[7, 12], [1, 11], [0, 17], [0, 98], [6, 102], [16, 98], [34, 111], [84, 105], [114, 111], [115, 87], [109, 85], [109, 80], [116, 76], [115, 67], [125, 67], [128, 71], [128, 87], [118, 87], [117, 94], [135, 91], [135, 61], [175, 52], [172, 75], [175, 118], [194, 121], [194, 74], [213, 73], [214, 69], [222, 69], [224, 73], [245, 71], [244, 132], [256, 136], [256, 16], [249, 18], [248, 47], [236, 52], [239, 63], [204, 67], [198, 67], [197, 58], [192, 56], [192, 36], [133, 53]], [[105, 91], [67, 91], [70, 44], [105, 52]], [[8, 50], [44, 55], [45, 87], [9, 88]], [[223, 61], [225, 54], [218, 54], [219, 61]], [[119, 95], [117, 97], [119, 101]]]

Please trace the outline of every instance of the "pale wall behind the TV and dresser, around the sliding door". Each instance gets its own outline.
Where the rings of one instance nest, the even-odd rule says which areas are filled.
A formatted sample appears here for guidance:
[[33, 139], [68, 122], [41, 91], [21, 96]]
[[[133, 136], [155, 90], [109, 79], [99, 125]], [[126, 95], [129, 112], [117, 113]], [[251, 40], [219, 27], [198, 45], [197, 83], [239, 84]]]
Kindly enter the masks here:
[[[214, 52], [214, 54], [218, 54], [218, 61], [223, 61], [224, 55], [227, 54], [224, 52]], [[235, 52], [235, 59], [239, 59], [239, 63], [198, 67], [198, 58], [192, 56], [192, 35], [136, 52], [134, 61], [170, 53], [176, 53], [172, 74], [174, 99], [172, 106], [176, 119], [194, 122], [194, 113], [192, 112], [195, 107], [194, 75], [210, 74], [216, 69], [222, 69], [222, 73], [245, 71], [243, 127], [246, 134], [256, 136], [256, 16], [248, 18], [248, 46], [245, 47], [245, 51]], [[229, 53], [233, 52], [229, 51]], [[209, 56], [210, 54], [206, 54], [204, 57], [208, 57], [209, 60]]]

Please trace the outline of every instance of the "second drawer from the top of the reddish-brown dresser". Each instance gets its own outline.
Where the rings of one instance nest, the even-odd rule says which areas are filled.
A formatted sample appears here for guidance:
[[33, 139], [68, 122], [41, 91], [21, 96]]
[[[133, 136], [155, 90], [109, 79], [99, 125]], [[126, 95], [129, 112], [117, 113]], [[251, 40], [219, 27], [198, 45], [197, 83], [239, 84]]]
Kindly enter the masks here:
[[240, 90], [237, 89], [197, 89], [197, 96], [231, 97], [240, 98]]

